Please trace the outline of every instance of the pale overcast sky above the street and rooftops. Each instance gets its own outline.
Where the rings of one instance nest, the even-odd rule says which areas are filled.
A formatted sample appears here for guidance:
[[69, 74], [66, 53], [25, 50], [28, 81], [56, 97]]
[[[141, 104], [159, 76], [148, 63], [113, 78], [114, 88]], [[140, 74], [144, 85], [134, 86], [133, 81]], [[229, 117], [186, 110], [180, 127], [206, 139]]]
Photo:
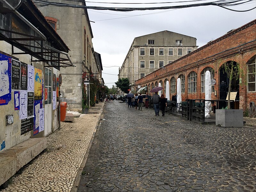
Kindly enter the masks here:
[[[151, 3], [174, 2], [174, 0], [94, 0], [94, 2]], [[203, 1], [205, 2], [205, 1]], [[191, 2], [190, 4], [202, 3]], [[86, 3], [87, 6], [102, 7], [162, 7], [177, 4], [101, 4]], [[229, 7], [247, 10], [256, 6], [250, 4]], [[248, 12], [234, 12], [217, 6], [200, 6], [183, 9], [147, 10], [116, 12], [88, 9], [92, 26], [93, 47], [101, 55], [102, 77], [109, 88], [118, 80], [118, 67], [121, 67], [135, 37], [159, 31], [172, 31], [197, 39], [201, 47], [217, 39], [231, 29], [239, 28], [256, 18], [256, 9]], [[115, 75], [108, 75], [108, 74]]]

